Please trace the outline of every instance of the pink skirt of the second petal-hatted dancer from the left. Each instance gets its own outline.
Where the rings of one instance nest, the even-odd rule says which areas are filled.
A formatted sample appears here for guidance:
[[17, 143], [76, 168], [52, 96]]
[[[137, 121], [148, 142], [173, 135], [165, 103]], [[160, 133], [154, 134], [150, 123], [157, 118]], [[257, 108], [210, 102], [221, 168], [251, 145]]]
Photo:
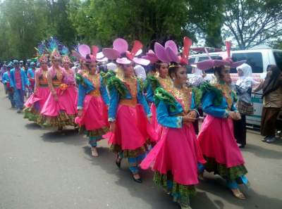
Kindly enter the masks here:
[[116, 130], [105, 137], [109, 137], [109, 144], [131, 151], [144, 146], [147, 139], [157, 140], [157, 135], [149, 125], [147, 115], [140, 104], [135, 107], [119, 105], [116, 113]]

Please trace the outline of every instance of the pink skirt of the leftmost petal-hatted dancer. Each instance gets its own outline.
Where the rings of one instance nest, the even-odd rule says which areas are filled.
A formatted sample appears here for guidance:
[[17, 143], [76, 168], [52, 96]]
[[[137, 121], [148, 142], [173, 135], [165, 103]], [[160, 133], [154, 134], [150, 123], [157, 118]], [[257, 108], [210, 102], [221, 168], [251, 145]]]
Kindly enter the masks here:
[[80, 127], [84, 126], [87, 131], [109, 127], [108, 108], [102, 96], [86, 95], [82, 117], [77, 117], [75, 122]]

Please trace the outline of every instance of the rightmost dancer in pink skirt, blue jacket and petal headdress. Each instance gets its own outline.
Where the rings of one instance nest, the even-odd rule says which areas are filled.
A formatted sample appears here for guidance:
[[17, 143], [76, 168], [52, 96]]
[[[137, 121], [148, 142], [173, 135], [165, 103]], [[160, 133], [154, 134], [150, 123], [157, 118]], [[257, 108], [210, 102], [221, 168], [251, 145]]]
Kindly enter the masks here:
[[[245, 160], [233, 135], [233, 120], [240, 120], [240, 113], [235, 108], [235, 93], [231, 91], [230, 68], [236, 68], [245, 61], [233, 63], [230, 58], [231, 44], [226, 43], [228, 59], [216, 60], [214, 75], [216, 83], [202, 85], [202, 108], [207, 117], [198, 136], [202, 153], [207, 160], [204, 165], [208, 172], [214, 172], [226, 179], [226, 184], [233, 195], [245, 199], [238, 184], [248, 184], [245, 174]], [[197, 63], [197, 68], [207, 70], [210, 61]], [[214, 131], [216, 130], [216, 131]]]

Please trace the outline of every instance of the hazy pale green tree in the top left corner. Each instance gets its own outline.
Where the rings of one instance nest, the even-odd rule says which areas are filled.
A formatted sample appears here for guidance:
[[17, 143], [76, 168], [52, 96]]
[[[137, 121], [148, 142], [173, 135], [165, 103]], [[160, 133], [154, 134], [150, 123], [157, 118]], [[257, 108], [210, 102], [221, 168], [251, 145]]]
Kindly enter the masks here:
[[40, 1], [10, 0], [1, 4], [1, 34], [6, 42], [4, 57], [25, 59], [35, 56], [34, 46], [44, 35], [44, 15]]

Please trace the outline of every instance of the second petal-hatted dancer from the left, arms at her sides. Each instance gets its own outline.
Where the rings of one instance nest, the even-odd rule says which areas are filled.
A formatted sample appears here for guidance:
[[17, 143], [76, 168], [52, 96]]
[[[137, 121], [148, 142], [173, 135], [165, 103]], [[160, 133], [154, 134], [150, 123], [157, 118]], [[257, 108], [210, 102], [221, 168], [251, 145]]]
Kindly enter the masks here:
[[124, 39], [116, 39], [113, 46], [114, 49], [103, 49], [104, 55], [109, 60], [116, 60], [119, 68], [116, 76], [108, 82], [112, 134], [107, 137], [111, 151], [117, 153], [116, 165], [121, 167], [122, 158], [128, 158], [133, 180], [141, 183], [138, 164], [145, 157], [147, 139], [157, 136], [149, 126], [148, 118], [152, 114], [142, 94], [142, 84], [134, 76], [133, 65], [148, 65], [149, 61], [135, 58], [135, 53], [142, 49], [139, 41], [135, 41], [131, 52], [128, 52], [128, 43]]

